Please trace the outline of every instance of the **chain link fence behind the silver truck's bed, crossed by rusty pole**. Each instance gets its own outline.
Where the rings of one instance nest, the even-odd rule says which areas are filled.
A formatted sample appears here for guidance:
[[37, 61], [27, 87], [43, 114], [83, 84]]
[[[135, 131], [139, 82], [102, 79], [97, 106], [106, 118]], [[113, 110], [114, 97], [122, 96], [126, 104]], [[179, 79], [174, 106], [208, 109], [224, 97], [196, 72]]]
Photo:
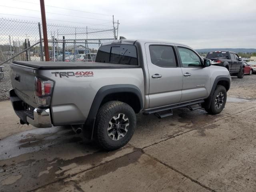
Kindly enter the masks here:
[[[39, 29], [38, 22], [0, 18], [0, 64], [30, 46], [12, 60], [42, 61]], [[47, 24], [47, 34], [51, 61], [93, 62], [100, 44], [116, 37], [116, 29]]]

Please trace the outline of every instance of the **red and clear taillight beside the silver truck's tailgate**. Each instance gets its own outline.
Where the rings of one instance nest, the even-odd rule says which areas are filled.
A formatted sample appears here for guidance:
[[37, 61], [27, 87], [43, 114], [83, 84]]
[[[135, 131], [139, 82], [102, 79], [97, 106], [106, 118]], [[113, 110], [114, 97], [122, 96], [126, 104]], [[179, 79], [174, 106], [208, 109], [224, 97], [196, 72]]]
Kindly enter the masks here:
[[35, 78], [35, 96], [38, 106], [50, 106], [54, 82], [43, 78]]

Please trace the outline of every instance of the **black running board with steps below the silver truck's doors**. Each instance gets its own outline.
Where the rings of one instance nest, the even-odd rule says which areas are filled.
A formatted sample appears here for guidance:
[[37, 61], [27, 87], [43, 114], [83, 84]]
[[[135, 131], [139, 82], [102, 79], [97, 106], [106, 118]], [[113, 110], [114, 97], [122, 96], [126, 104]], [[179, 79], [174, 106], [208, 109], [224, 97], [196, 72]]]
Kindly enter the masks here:
[[[172, 105], [172, 106], [168, 106], [168, 107], [164, 107], [164, 108], [148, 110], [148, 111], [145, 111], [143, 114], [144, 115], [156, 114], [156, 116], [162, 118], [162, 117], [167, 117], [167, 116], [172, 115], [172, 110], [177, 109], [177, 108], [187, 107], [190, 110], [200, 109], [201, 108], [201, 103], [203, 103], [203, 102], [204, 102], [204, 100], [182, 103], [182, 104]], [[171, 110], [171, 111], [166, 113], [166, 114], [160, 113], [160, 112], [165, 112], [165, 111], [168, 111], [168, 110]]]

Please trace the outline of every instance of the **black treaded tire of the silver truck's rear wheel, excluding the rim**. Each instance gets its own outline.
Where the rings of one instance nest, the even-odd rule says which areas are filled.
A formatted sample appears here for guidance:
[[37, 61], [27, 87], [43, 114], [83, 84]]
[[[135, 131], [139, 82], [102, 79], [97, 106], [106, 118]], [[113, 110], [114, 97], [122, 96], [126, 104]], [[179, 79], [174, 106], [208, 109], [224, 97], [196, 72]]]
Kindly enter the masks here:
[[[109, 122], [118, 114], [124, 114], [129, 121], [128, 131], [120, 140], [112, 140], [108, 136]], [[103, 104], [98, 110], [96, 116], [96, 140], [98, 144], [105, 150], [115, 150], [126, 145], [132, 135], [134, 134], [134, 129], [136, 127], [136, 115], [132, 107], [124, 102], [120, 101], [110, 101]]]

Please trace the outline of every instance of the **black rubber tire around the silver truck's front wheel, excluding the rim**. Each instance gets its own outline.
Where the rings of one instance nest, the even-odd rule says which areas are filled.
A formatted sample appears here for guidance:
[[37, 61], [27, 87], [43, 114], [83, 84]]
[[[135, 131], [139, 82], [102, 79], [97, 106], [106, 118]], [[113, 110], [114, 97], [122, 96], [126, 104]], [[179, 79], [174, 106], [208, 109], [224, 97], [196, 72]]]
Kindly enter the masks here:
[[[222, 106], [218, 109], [216, 108], [216, 97], [219, 93], [224, 94], [224, 99], [223, 99], [223, 104]], [[219, 114], [220, 112], [222, 112], [222, 110], [225, 107], [226, 104], [226, 100], [227, 100], [227, 90], [224, 86], [222, 85], [217, 85], [216, 89], [214, 90], [214, 93], [212, 95], [212, 100], [211, 100], [211, 104], [210, 104], [210, 108], [209, 109], [205, 109], [209, 114], [215, 115], [215, 114]]]

